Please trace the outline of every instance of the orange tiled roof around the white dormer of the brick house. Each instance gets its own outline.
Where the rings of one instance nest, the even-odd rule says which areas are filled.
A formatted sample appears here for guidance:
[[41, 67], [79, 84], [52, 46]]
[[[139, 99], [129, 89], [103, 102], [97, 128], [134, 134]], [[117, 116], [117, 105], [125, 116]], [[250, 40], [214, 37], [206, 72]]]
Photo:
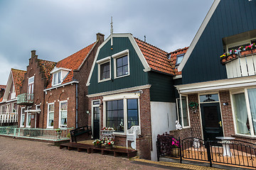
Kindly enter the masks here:
[[[87, 55], [89, 54], [90, 50], [92, 50], [92, 47], [94, 45], [95, 45], [95, 42], [92, 43], [91, 45], [88, 45], [87, 47], [83, 48], [82, 50], [75, 52], [73, 55], [70, 55], [69, 57], [66, 57], [65, 59], [57, 62], [55, 67], [71, 69], [71, 71], [68, 73], [68, 75], [63, 80], [62, 84], [73, 81], [73, 76], [74, 76], [73, 71], [80, 67], [82, 62], [85, 60], [85, 57], [87, 57]], [[51, 87], [52, 79], [53, 79], [53, 77], [51, 76], [46, 89]]]

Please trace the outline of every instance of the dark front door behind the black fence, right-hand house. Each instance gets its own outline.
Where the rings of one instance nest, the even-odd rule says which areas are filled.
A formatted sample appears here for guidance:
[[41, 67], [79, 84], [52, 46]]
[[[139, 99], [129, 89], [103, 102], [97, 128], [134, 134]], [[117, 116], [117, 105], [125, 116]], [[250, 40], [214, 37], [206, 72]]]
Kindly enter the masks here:
[[203, 139], [216, 140], [215, 137], [223, 137], [223, 128], [220, 117], [220, 103], [201, 104]]

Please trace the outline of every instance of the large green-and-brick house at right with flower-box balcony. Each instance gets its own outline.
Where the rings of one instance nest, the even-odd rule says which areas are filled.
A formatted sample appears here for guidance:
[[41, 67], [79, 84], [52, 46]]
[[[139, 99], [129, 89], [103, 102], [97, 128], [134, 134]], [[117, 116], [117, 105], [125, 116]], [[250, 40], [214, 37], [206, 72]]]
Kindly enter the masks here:
[[[256, 42], [255, 15], [256, 1], [215, 0], [178, 65], [176, 98], [186, 100], [186, 131], [193, 137], [256, 143], [256, 50], [239, 49]], [[197, 111], [191, 102], [198, 103]]]

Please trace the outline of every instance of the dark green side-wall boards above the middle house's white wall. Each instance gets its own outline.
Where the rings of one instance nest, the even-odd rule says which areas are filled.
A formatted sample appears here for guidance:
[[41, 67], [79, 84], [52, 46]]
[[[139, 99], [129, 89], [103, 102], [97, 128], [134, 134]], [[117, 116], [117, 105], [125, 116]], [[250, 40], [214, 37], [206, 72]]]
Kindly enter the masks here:
[[167, 74], [149, 72], [150, 101], [175, 102], [174, 80]]

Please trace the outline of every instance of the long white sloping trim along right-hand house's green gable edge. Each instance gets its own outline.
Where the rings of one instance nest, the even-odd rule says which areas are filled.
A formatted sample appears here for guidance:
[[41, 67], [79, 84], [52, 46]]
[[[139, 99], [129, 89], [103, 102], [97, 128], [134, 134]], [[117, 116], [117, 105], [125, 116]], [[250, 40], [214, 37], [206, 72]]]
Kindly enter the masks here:
[[193, 52], [193, 49], [196, 47], [196, 44], [197, 44], [199, 38], [201, 38], [203, 31], [206, 29], [206, 26], [208, 25], [210, 18], [213, 16], [213, 13], [219, 3], [220, 3], [220, 0], [215, 0], [213, 2], [213, 5], [210, 7], [210, 10], [208, 11], [206, 18], [204, 18], [203, 23], [201, 24], [198, 32], [196, 33], [196, 36], [193, 38], [191, 45], [188, 47], [188, 50], [187, 50], [186, 54], [184, 55], [183, 60], [181, 61], [181, 64], [178, 65], [178, 72], [182, 71], [183, 67], [185, 66], [186, 62], [188, 61], [188, 58], [190, 57], [191, 53]]

